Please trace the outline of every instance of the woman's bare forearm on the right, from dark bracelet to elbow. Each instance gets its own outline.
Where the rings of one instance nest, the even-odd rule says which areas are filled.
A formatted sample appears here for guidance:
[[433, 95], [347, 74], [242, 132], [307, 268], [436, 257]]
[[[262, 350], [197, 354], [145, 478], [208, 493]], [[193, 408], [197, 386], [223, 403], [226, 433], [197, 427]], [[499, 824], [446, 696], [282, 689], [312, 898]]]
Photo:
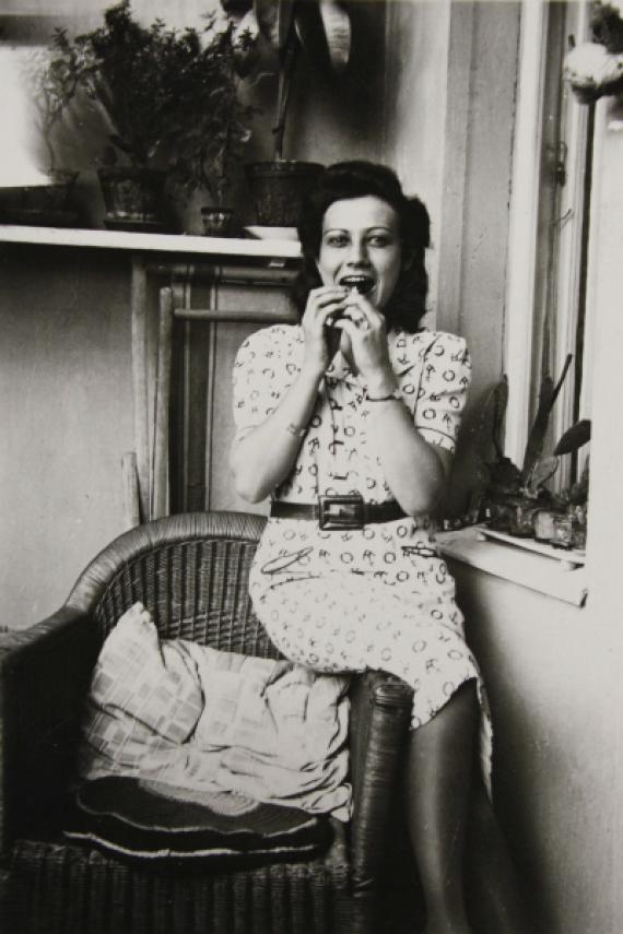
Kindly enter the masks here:
[[369, 429], [387, 485], [409, 516], [435, 510], [450, 454], [420, 435], [407, 406], [396, 399], [371, 402]]

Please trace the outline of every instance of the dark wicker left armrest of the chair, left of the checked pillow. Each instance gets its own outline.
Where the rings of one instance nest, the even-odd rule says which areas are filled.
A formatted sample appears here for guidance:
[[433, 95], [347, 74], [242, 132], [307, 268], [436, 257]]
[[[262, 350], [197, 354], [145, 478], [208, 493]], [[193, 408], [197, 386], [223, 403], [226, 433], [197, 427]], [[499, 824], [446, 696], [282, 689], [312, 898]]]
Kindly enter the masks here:
[[0, 637], [2, 854], [17, 833], [40, 833], [58, 808], [102, 639], [89, 615], [67, 606]]

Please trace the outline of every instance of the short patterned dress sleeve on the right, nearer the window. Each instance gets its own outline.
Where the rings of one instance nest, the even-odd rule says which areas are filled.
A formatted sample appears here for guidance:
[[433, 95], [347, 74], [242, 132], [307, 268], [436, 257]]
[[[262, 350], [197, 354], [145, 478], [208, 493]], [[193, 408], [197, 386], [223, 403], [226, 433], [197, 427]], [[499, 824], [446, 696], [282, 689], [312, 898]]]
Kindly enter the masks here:
[[470, 382], [463, 338], [436, 334], [424, 354], [415, 406], [415, 427], [431, 445], [454, 452]]

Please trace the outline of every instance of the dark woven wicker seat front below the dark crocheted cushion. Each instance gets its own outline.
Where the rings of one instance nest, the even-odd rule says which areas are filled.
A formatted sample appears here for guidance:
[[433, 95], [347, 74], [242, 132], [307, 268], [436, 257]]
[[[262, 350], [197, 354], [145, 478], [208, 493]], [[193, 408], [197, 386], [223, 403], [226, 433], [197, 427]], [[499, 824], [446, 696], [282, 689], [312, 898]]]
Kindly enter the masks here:
[[346, 867], [326, 861], [212, 876], [131, 872], [54, 843], [21, 842], [14, 872], [31, 911], [27, 929], [10, 934], [327, 934], [346, 887]]

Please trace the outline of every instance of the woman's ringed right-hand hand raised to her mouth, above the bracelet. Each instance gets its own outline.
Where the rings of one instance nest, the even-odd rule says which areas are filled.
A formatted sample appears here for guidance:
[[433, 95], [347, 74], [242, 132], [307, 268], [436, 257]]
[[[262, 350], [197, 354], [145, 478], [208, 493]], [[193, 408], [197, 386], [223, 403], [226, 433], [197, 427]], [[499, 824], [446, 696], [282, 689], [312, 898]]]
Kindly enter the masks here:
[[372, 394], [392, 392], [396, 376], [389, 360], [385, 316], [365, 295], [351, 292], [344, 298], [344, 314], [334, 327], [351, 339], [353, 359], [362, 381]]

